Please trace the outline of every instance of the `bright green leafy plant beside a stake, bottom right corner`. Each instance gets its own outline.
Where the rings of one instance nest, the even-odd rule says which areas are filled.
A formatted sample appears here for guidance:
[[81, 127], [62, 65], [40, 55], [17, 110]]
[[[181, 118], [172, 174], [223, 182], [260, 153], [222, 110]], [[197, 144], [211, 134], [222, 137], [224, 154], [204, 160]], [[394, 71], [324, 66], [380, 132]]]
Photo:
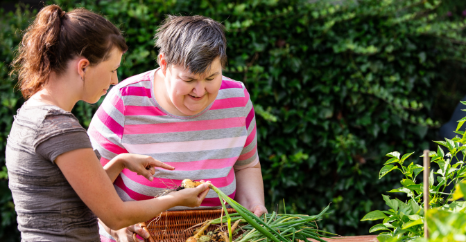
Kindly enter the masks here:
[[[466, 104], [466, 102], [463, 102]], [[466, 109], [463, 109], [466, 111]], [[429, 225], [429, 241], [466, 241], [466, 202], [458, 201], [466, 194], [466, 165], [463, 160], [458, 159], [458, 154], [466, 154], [466, 135], [460, 128], [466, 122], [466, 117], [458, 120], [456, 133], [459, 137], [445, 141], [435, 141], [438, 144], [437, 151], [429, 151], [431, 162], [438, 165], [431, 166], [429, 174], [429, 207], [432, 210], [424, 211], [424, 182], [416, 183], [416, 177], [424, 167], [411, 162], [405, 164], [406, 159], [413, 153], [406, 153], [400, 158], [400, 153], [395, 151], [388, 153], [390, 157], [380, 171], [380, 178], [386, 176], [390, 171], [401, 171], [404, 179], [401, 180], [402, 187], [392, 189], [388, 192], [405, 193], [408, 200], [400, 201], [398, 198], [390, 199], [382, 195], [389, 210], [375, 210], [366, 214], [362, 221], [383, 220], [382, 223], [374, 225], [369, 232], [379, 230], [383, 232], [377, 239], [379, 241], [424, 241], [424, 222]], [[442, 148], [443, 147], [443, 148]], [[447, 149], [447, 151], [444, 151]], [[421, 157], [424, 157], [422, 155]], [[405, 166], [406, 165], [406, 166]], [[454, 185], [451, 190], [448, 187]]]

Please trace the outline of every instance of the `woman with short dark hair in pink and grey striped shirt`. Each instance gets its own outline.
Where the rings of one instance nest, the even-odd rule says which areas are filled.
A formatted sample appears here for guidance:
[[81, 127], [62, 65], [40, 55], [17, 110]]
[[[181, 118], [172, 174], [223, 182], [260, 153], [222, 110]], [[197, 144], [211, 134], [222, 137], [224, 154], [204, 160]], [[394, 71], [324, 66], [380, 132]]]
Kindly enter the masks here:
[[[114, 86], [92, 118], [89, 137], [106, 165], [119, 152], [152, 156], [164, 183], [122, 171], [123, 201], [144, 201], [184, 178], [210, 180], [257, 216], [266, 212], [254, 108], [242, 82], [222, 75], [227, 40], [222, 24], [204, 16], [167, 16], [155, 35], [159, 68]], [[214, 192], [199, 208], [219, 208]], [[187, 207], [173, 207], [185, 210]], [[132, 228], [103, 227], [103, 241], [132, 241]], [[144, 232], [141, 233], [144, 235]]]

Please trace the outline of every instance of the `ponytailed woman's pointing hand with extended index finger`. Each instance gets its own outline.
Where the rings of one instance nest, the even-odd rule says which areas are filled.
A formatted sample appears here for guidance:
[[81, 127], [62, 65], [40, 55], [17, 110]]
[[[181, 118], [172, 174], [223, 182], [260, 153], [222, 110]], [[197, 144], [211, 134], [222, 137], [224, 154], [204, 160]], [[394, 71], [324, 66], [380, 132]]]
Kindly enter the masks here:
[[121, 153], [116, 157], [121, 160], [124, 168], [136, 172], [138, 175], [142, 175], [150, 181], [154, 180], [154, 167], [160, 167], [169, 170], [175, 169], [175, 167], [166, 165], [164, 162], [159, 160], [155, 160], [151, 156], [138, 155], [135, 153]]

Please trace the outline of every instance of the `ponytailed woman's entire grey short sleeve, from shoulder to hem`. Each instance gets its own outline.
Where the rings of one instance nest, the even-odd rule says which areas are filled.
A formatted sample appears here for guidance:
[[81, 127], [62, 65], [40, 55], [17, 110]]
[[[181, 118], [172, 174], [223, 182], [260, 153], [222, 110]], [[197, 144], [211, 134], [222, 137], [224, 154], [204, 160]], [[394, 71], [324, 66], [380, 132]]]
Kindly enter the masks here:
[[75, 149], [92, 148], [86, 130], [73, 114], [51, 109], [37, 129], [35, 152], [54, 162], [57, 156]]

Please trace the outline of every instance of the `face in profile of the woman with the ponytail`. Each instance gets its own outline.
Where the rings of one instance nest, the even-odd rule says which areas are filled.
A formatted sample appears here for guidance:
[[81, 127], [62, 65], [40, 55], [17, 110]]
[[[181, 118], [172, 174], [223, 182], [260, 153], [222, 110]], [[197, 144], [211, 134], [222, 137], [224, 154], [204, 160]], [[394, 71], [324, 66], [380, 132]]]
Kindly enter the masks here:
[[107, 93], [110, 85], [118, 84], [116, 69], [119, 68], [123, 53], [118, 48], [110, 51], [110, 57], [95, 66], [88, 66], [84, 77], [83, 101], [96, 103]]

